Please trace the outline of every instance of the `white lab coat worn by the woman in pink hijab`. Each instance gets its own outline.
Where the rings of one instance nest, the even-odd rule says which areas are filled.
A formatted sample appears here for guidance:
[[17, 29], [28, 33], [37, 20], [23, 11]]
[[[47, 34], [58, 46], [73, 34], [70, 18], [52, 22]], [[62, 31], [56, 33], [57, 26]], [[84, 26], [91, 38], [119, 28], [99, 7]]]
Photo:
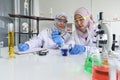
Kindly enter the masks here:
[[88, 31], [88, 37], [87, 37], [87, 40], [85, 40], [84, 38], [82, 38], [81, 36], [78, 36], [77, 32], [74, 31], [72, 36], [71, 36], [71, 39], [69, 40], [69, 42], [67, 44], [72, 44], [72, 46], [74, 46], [75, 44], [77, 45], [83, 45], [83, 46], [93, 46], [95, 47], [96, 46], [96, 29], [97, 29], [97, 24], [95, 24], [92, 29], [88, 29], [87, 28], [87, 31]]

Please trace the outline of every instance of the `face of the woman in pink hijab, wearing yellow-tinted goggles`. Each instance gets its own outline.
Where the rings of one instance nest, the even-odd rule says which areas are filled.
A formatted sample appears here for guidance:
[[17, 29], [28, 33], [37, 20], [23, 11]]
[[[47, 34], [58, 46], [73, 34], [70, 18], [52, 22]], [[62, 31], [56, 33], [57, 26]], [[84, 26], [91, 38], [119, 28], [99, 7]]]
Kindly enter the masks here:
[[75, 20], [76, 28], [82, 32], [85, 32], [86, 27], [88, 25], [87, 16], [81, 16], [79, 14], [75, 14], [74, 20]]

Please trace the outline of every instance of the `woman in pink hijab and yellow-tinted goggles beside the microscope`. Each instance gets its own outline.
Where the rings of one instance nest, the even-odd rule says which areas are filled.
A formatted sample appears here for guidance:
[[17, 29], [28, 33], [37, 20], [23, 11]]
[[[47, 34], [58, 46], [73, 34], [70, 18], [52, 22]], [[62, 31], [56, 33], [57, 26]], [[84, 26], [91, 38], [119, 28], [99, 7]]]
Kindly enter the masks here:
[[72, 44], [71, 54], [78, 54], [86, 50], [85, 46], [96, 46], [97, 24], [93, 20], [90, 11], [84, 7], [77, 9], [74, 13], [75, 31], [68, 44]]

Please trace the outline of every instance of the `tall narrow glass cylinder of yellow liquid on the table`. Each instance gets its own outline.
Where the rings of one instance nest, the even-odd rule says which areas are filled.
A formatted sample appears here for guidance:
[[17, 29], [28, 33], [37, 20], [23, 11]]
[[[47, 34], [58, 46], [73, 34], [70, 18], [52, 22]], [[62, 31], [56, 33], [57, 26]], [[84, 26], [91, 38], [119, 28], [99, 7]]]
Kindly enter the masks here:
[[13, 23], [8, 24], [8, 48], [9, 58], [14, 57], [14, 28]]

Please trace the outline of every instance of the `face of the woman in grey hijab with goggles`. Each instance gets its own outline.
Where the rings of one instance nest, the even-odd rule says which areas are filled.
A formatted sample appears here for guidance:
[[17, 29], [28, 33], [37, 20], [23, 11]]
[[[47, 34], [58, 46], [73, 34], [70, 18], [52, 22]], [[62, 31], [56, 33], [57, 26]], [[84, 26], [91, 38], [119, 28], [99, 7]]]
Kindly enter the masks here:
[[56, 22], [57, 28], [60, 30], [64, 30], [66, 27], [66, 23], [67, 23], [66, 17], [61, 16], [60, 18], [57, 18], [56, 20], [57, 20]]

